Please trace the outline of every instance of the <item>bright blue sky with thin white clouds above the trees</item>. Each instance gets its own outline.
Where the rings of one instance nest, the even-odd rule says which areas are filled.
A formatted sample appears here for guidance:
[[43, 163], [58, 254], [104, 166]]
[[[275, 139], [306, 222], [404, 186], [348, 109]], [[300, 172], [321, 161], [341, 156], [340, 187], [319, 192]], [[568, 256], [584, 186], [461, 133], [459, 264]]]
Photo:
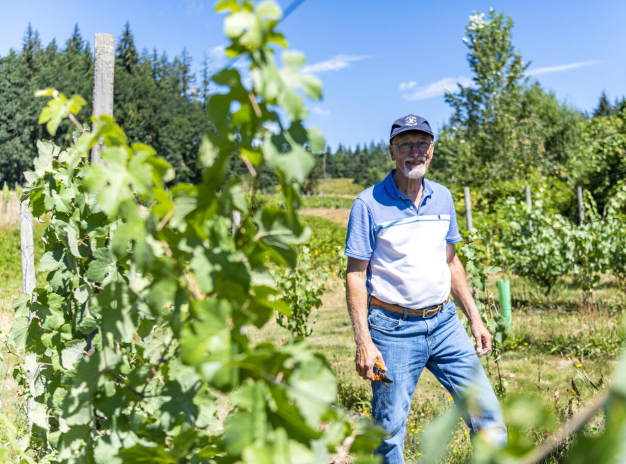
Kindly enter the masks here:
[[[290, 1], [280, 0], [285, 8]], [[28, 23], [44, 45], [63, 45], [78, 23], [93, 49], [95, 33], [116, 38], [130, 22], [139, 50], [183, 47], [199, 68], [226, 63], [223, 16], [215, 2], [0, 0], [0, 55], [20, 49]], [[302, 51], [324, 83], [324, 99], [310, 103], [309, 124], [333, 148], [386, 139], [394, 119], [419, 114], [439, 129], [450, 109], [443, 89], [471, 79], [462, 38], [473, 11], [489, 8], [513, 18], [513, 42], [528, 71], [560, 101], [592, 111], [598, 97], [626, 94], [626, 2], [305, 0], [279, 29]]]

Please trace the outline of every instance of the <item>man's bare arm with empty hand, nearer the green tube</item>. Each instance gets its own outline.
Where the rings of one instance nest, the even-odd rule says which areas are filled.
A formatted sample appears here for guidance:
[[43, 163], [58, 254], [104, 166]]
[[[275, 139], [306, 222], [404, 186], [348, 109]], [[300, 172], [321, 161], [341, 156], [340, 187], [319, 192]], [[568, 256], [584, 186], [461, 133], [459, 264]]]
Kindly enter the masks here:
[[484, 355], [491, 350], [491, 334], [480, 318], [474, 298], [469, 291], [463, 264], [456, 256], [452, 243], [448, 243], [446, 246], [446, 254], [448, 255], [448, 266], [451, 274], [450, 293], [463, 314], [468, 318], [469, 328], [471, 328], [471, 333], [476, 339], [476, 353]]

